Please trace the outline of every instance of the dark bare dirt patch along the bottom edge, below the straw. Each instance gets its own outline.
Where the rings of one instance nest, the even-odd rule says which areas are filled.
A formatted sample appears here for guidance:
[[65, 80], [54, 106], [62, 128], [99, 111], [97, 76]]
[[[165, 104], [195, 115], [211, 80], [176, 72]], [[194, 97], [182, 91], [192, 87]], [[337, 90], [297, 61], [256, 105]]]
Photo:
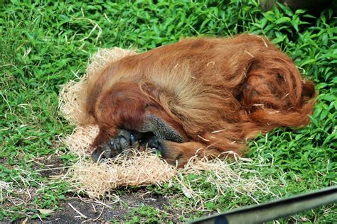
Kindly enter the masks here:
[[[141, 205], [152, 206], [159, 211], [168, 213], [174, 223], [178, 222], [176, 211], [167, 211], [168, 197], [141, 189], [137, 192], [123, 193], [120, 201], [109, 205], [109, 207], [102, 203], [89, 201], [87, 198], [67, 198], [60, 203], [60, 208], [57, 211], [51, 213], [47, 218], [43, 218], [43, 222], [38, 218], [22, 218], [14, 223], [23, 223], [24, 221], [26, 223], [106, 223], [112, 220], [123, 223], [128, 220], [126, 215], [132, 211], [132, 208], [139, 208]], [[3, 223], [10, 223], [10, 220], [3, 220]]]

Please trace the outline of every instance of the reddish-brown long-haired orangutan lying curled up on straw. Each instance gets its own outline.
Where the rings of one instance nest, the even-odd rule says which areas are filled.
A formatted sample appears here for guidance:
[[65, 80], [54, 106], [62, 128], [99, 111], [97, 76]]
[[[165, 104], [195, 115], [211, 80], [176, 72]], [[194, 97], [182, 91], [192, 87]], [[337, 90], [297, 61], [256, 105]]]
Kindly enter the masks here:
[[123, 57], [87, 80], [85, 113], [100, 128], [92, 159], [156, 148], [182, 166], [276, 127], [309, 123], [314, 84], [257, 35], [191, 38]]

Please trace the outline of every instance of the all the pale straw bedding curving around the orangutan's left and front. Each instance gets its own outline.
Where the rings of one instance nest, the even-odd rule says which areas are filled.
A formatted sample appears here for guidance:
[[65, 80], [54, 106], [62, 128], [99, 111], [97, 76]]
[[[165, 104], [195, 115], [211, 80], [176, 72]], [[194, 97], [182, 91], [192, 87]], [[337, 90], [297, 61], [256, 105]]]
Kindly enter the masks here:
[[[99, 50], [90, 59], [87, 66], [87, 74], [78, 82], [71, 80], [65, 84], [59, 95], [59, 110], [64, 118], [77, 127], [71, 135], [63, 141], [71, 153], [78, 156], [78, 162], [73, 165], [65, 175], [73, 184], [73, 188], [84, 192], [92, 198], [106, 197], [109, 192], [117, 187], [146, 186], [151, 184], [162, 184], [164, 182], [178, 181], [181, 184], [183, 194], [195, 201], [202, 201], [202, 192], [193, 189], [193, 181], [187, 181], [186, 176], [190, 174], [203, 175], [208, 171], [206, 177], [210, 183], [215, 185], [218, 194], [223, 194], [228, 189], [238, 194], [253, 194], [255, 191], [268, 193], [267, 184], [258, 177], [252, 175], [250, 179], [242, 177], [242, 173], [252, 172], [240, 168], [241, 164], [251, 162], [250, 159], [237, 158], [236, 169], [232, 170], [231, 164], [223, 159], [208, 161], [205, 158], [193, 157], [186, 167], [177, 169], [160, 159], [153, 151], [138, 152], [129, 150], [114, 159], [100, 164], [93, 163], [90, 159], [90, 142], [98, 133], [95, 125], [80, 126], [82, 111], [80, 109], [79, 95], [85, 85], [87, 77], [95, 74], [97, 69], [104, 68], [109, 62], [114, 62], [127, 55], [134, 55], [132, 50], [123, 50], [114, 47], [112, 49]], [[215, 198], [216, 200], [216, 198]]]

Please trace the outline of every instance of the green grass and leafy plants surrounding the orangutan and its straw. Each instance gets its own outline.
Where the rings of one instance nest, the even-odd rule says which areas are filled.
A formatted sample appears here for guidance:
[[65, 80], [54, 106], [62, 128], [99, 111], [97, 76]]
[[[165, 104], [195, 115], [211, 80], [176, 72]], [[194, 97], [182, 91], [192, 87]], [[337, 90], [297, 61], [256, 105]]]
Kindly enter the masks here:
[[[5, 3], [0, 5], [0, 181], [11, 187], [0, 192], [4, 195], [0, 221], [27, 215], [38, 218], [39, 208], [58, 209], [72, 195], [66, 182], [43, 177], [36, 169], [50, 155], [60, 157], [64, 166], [75, 162], [58, 144], [58, 138], [73, 128], [58, 114], [58, 91], [61, 84], [85, 73], [90, 54], [99, 47], [113, 46], [145, 51], [196, 35], [265, 35], [316, 83], [319, 99], [311, 124], [298, 130], [274, 130], [250, 141], [247, 157], [259, 158], [255, 164], [262, 166], [247, 168], [273, 179], [277, 184], [271, 188], [277, 196], [336, 184], [337, 18], [333, 9], [313, 16], [282, 5], [262, 12], [254, 1], [1, 2]], [[204, 192], [205, 201], [216, 194], [211, 183], [200, 181], [195, 187]], [[29, 189], [35, 189], [34, 198], [16, 206], [6, 197], [28, 196]], [[148, 190], [181, 194], [178, 184]], [[273, 196], [257, 194], [255, 198], [264, 202]], [[206, 207], [215, 212], [252, 203], [248, 196], [233, 198], [229, 189]], [[179, 197], [171, 200], [171, 206], [195, 204]], [[191, 211], [181, 215], [181, 220], [203, 215]], [[130, 222], [166, 218], [151, 206], [126, 214]], [[325, 206], [279, 221], [332, 223], [335, 218], [336, 206]]]

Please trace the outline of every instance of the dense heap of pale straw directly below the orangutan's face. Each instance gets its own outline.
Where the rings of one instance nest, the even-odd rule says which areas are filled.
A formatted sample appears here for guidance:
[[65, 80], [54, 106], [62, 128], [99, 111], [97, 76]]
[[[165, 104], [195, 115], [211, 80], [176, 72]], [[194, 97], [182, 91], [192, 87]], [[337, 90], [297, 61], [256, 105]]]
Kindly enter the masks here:
[[147, 186], [171, 180], [176, 169], [151, 152], [130, 150], [100, 164], [85, 160], [70, 169], [75, 186], [90, 197], [102, 198], [119, 186]]

